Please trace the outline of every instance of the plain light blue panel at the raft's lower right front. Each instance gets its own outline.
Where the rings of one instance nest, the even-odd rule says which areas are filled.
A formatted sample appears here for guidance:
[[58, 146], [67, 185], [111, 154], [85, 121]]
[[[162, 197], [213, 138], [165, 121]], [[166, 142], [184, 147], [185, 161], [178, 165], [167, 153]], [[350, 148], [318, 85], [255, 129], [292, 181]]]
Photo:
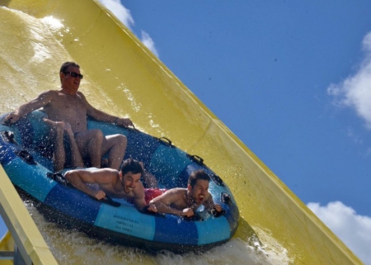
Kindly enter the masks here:
[[210, 244], [230, 238], [230, 227], [224, 216], [195, 222], [198, 230], [198, 245]]

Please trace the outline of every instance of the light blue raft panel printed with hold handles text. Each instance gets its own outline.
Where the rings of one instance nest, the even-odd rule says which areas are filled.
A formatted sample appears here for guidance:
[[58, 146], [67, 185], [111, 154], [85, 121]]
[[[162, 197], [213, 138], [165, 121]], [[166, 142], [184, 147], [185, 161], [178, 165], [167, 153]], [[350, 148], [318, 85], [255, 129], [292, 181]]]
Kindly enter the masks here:
[[155, 232], [153, 216], [139, 213], [134, 206], [127, 205], [102, 204], [94, 225], [145, 240], [153, 240]]

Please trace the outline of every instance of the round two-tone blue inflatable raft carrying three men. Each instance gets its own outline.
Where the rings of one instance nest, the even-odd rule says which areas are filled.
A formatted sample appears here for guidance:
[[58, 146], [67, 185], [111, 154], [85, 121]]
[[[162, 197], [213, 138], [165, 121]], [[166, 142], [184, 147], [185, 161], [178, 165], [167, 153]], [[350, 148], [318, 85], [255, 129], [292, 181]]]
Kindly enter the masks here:
[[48, 220], [113, 244], [151, 252], [203, 251], [228, 241], [234, 234], [240, 215], [231, 191], [204, 165], [201, 157], [187, 154], [166, 138], [113, 124], [88, 122], [89, 128], [100, 128], [104, 135], [125, 135], [128, 140], [125, 158], [142, 161], [161, 188], [187, 187], [193, 171], [205, 170], [212, 179], [209, 192], [225, 210], [221, 216], [214, 216], [202, 207], [190, 220], [171, 214], [142, 213], [124, 200], [101, 202], [50, 178], [54, 165], [45, 156], [48, 136], [48, 127], [42, 121], [45, 116], [34, 111], [11, 126], [0, 124], [0, 163], [18, 191], [31, 197]]

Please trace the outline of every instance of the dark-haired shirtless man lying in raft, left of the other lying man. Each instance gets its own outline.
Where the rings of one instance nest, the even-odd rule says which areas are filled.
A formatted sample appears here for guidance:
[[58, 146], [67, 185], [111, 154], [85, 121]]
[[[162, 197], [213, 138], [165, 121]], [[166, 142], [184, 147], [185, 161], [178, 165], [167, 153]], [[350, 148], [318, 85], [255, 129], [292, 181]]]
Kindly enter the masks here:
[[[140, 180], [143, 168], [133, 158], [125, 160], [120, 171], [111, 168], [104, 169], [75, 169], [67, 171], [64, 177], [78, 190], [100, 200], [109, 195], [113, 198], [131, 198], [138, 209], [143, 210], [147, 203], [144, 196], [144, 187]], [[97, 184], [99, 189], [93, 189], [89, 184]], [[157, 211], [154, 205], [149, 211]]]

